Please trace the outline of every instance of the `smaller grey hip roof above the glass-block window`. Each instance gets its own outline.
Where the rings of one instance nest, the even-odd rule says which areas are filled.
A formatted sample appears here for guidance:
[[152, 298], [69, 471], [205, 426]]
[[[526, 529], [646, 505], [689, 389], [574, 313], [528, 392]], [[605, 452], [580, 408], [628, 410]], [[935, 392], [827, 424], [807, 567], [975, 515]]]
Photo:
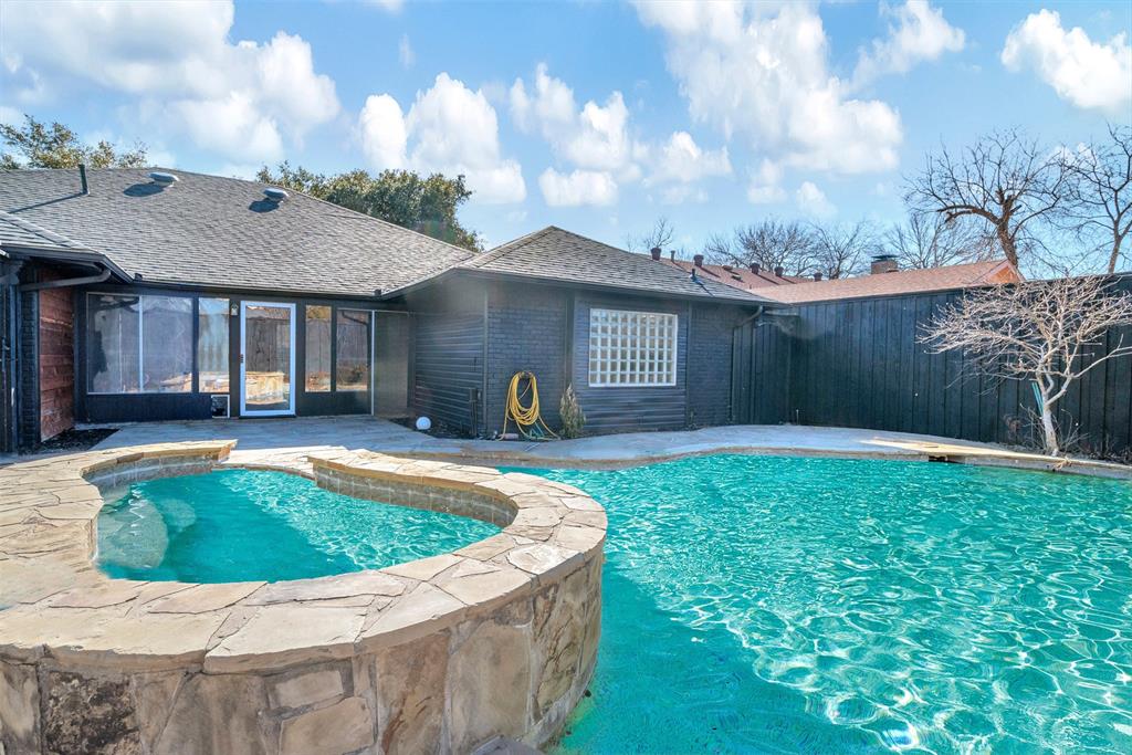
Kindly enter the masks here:
[[723, 299], [753, 304], [765, 302], [765, 299], [755, 294], [705, 276], [697, 275], [698, 280], [693, 281], [684, 271], [658, 265], [644, 255], [610, 247], [554, 225], [508, 241], [458, 267], [661, 295]]

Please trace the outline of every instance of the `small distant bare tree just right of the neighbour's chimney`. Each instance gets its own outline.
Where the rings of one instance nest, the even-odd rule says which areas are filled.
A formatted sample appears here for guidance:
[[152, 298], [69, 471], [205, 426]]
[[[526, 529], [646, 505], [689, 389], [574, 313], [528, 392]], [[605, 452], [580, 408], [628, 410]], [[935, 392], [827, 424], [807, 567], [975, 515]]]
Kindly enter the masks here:
[[909, 213], [907, 221], [884, 232], [881, 244], [901, 267], [920, 269], [978, 261], [994, 254], [969, 226], [949, 223], [935, 213]]

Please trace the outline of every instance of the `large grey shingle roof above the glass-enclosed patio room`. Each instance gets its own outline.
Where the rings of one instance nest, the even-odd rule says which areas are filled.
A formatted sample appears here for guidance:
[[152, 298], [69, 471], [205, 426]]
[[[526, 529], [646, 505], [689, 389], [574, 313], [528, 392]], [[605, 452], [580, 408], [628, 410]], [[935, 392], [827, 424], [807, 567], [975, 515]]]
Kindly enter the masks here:
[[156, 282], [372, 297], [474, 256], [299, 192], [275, 205], [265, 183], [174, 170], [163, 189], [149, 170], [88, 170], [88, 195], [75, 170], [0, 172], [0, 209]]

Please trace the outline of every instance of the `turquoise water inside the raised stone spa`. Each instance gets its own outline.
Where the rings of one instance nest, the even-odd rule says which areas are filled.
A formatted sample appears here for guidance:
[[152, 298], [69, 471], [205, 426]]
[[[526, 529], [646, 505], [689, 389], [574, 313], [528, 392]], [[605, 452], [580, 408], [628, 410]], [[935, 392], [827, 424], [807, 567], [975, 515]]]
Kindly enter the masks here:
[[130, 580], [302, 580], [435, 556], [498, 531], [463, 516], [351, 498], [284, 472], [224, 470], [108, 496], [98, 514], [98, 566]]

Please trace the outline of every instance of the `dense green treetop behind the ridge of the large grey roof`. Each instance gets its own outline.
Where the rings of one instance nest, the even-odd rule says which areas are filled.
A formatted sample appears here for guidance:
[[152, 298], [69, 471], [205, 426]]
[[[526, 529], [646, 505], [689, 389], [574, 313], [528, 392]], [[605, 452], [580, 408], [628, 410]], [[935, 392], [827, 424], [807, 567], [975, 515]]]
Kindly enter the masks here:
[[421, 178], [412, 171], [381, 171], [371, 175], [363, 170], [336, 175], [312, 173], [305, 168], [280, 163], [274, 171], [266, 165], [256, 178], [318, 199], [349, 207], [359, 213], [396, 223], [457, 247], [480, 251], [482, 243], [456, 217], [456, 211], [472, 196], [464, 177], [449, 179], [440, 173]]

